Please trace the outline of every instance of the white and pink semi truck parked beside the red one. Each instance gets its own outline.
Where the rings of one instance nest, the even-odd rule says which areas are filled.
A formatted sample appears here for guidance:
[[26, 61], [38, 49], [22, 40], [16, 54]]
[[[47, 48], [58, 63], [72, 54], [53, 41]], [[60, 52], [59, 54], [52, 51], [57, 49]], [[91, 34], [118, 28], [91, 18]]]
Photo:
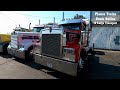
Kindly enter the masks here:
[[[39, 43], [39, 33], [44, 27], [35, 26], [32, 31], [23, 32], [16, 28], [11, 34], [11, 42], [7, 47], [8, 53], [25, 60], [33, 59], [33, 46]], [[18, 30], [19, 29], [19, 30]]]

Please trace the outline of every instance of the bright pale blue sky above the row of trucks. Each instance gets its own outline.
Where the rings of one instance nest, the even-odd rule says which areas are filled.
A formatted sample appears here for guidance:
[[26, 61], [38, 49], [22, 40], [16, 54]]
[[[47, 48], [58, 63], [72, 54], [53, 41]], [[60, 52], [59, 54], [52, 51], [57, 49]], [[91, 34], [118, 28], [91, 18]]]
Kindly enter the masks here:
[[39, 24], [53, 22], [53, 17], [58, 23], [62, 19], [64, 12], [65, 18], [73, 18], [74, 15], [83, 15], [89, 19], [90, 11], [0, 11], [0, 33], [11, 33], [19, 24], [28, 28], [29, 23], [33, 27]]

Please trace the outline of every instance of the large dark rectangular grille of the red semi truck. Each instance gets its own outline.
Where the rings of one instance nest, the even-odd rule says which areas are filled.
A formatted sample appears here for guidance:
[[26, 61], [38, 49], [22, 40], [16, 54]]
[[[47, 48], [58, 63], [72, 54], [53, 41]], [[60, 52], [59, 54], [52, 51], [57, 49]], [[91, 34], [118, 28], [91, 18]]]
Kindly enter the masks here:
[[61, 35], [43, 34], [42, 35], [42, 54], [60, 58]]

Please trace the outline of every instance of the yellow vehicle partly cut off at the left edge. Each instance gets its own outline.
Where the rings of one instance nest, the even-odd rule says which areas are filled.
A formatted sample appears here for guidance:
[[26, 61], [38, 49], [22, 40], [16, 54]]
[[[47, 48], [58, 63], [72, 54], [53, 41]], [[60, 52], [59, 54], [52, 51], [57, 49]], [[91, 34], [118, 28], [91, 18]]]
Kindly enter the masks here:
[[0, 52], [7, 54], [7, 47], [11, 41], [11, 35], [0, 34]]

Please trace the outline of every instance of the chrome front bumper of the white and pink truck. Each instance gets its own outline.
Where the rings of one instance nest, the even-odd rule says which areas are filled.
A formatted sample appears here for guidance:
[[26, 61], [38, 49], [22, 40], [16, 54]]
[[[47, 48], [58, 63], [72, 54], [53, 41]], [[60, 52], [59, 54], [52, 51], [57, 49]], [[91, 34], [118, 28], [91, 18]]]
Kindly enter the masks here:
[[14, 48], [11, 48], [10, 46], [7, 47], [7, 50], [8, 54], [21, 59], [25, 59], [25, 51], [16, 50]]

